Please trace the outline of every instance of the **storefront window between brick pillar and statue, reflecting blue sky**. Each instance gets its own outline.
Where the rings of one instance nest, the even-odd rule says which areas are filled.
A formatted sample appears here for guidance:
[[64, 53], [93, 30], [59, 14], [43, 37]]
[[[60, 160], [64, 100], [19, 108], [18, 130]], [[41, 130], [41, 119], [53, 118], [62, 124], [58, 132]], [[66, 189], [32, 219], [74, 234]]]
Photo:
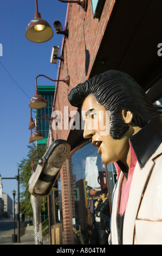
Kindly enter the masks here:
[[[88, 143], [72, 156], [73, 186], [75, 198], [75, 221], [73, 232], [75, 244], [88, 244], [94, 224], [94, 203], [101, 190], [114, 187], [114, 169], [102, 162], [98, 149]], [[106, 170], [109, 176], [107, 184]]]

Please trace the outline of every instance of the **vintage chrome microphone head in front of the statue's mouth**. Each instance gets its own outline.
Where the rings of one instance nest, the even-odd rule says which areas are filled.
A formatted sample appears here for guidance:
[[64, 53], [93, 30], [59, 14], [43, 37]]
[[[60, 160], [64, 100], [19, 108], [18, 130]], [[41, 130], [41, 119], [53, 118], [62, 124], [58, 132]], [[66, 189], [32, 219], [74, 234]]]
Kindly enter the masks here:
[[57, 174], [70, 153], [70, 145], [64, 139], [54, 141], [38, 160], [29, 179], [29, 192], [33, 196], [46, 197], [51, 193]]

